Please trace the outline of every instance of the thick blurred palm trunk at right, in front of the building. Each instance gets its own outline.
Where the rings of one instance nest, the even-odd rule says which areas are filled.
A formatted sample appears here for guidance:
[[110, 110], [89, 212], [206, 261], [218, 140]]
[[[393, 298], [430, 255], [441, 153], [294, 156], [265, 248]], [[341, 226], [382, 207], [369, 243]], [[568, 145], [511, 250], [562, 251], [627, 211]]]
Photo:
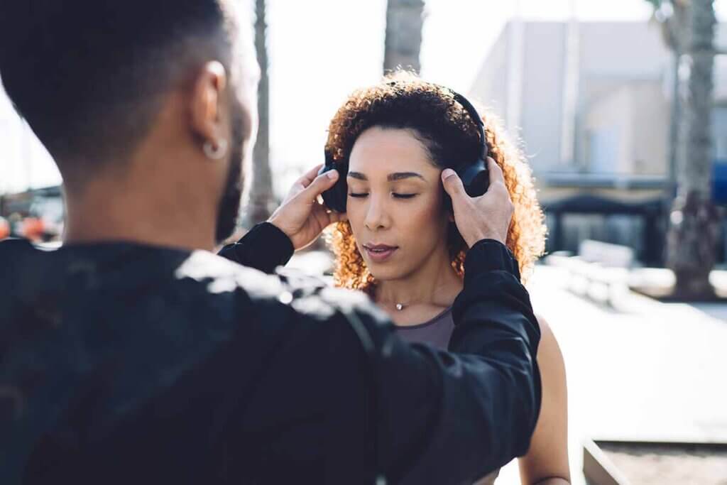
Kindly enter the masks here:
[[719, 231], [711, 180], [714, 5], [712, 0], [648, 1], [678, 59], [678, 95], [673, 102], [680, 116], [672, 125], [677, 190], [666, 245], [667, 267], [676, 276], [672, 297], [713, 297], [709, 276]]

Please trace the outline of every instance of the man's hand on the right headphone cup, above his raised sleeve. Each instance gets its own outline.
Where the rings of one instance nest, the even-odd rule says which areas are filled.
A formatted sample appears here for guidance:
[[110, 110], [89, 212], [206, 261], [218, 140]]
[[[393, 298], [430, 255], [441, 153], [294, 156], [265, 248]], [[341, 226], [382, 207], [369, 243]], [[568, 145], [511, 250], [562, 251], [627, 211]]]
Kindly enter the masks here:
[[470, 247], [481, 239], [495, 239], [505, 244], [507, 229], [510, 228], [510, 220], [515, 211], [510, 193], [505, 187], [502, 169], [490, 157], [487, 157], [487, 167], [490, 172], [490, 185], [479, 197], [467, 195], [462, 180], [454, 170], [442, 171], [444, 190], [452, 199], [454, 223]]

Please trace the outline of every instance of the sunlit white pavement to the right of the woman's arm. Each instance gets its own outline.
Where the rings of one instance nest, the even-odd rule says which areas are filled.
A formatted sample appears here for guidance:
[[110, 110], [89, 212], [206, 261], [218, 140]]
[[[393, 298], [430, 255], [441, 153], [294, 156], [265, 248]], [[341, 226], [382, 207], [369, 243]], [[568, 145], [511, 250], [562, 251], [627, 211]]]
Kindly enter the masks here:
[[[566, 360], [572, 483], [585, 485], [583, 438], [727, 442], [727, 305], [629, 293], [613, 310], [567, 282], [538, 266], [528, 289]], [[519, 483], [515, 463], [497, 481]]]

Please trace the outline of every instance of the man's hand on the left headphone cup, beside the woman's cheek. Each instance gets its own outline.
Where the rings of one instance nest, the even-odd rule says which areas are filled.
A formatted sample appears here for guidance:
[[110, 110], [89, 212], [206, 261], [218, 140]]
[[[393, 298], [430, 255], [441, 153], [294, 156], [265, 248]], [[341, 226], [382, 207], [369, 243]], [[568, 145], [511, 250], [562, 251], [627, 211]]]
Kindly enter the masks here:
[[337, 170], [316, 176], [319, 169], [321, 165], [300, 177], [268, 219], [268, 223], [290, 238], [296, 251], [316, 241], [327, 225], [346, 220], [345, 214], [332, 212], [318, 203], [318, 196], [333, 187], [339, 177]]

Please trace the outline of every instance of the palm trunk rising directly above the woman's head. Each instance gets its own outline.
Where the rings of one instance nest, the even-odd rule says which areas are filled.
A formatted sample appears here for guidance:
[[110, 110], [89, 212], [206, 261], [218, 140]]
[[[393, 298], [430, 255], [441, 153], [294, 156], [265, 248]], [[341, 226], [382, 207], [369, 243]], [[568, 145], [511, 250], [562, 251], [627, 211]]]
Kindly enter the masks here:
[[422, 47], [423, 0], [388, 0], [384, 72], [401, 66], [419, 73], [419, 50]]

